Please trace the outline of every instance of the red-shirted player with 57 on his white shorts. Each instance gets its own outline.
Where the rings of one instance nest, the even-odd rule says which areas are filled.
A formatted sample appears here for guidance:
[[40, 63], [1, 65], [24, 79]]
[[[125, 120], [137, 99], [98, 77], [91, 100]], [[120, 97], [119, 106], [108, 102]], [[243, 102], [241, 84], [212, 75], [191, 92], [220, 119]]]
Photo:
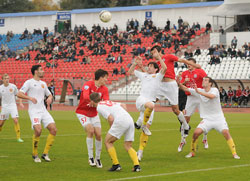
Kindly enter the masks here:
[[[101, 137], [101, 121], [97, 114], [96, 107], [93, 107], [90, 101], [90, 94], [98, 92], [102, 100], [109, 100], [108, 88], [105, 86], [108, 79], [108, 72], [98, 69], [95, 72], [95, 80], [85, 82], [82, 87], [79, 105], [76, 109], [76, 116], [81, 125], [87, 133], [87, 148], [89, 156], [89, 165], [102, 168], [101, 163], [101, 150], [102, 150], [102, 137]], [[95, 150], [96, 157], [93, 156], [93, 136], [95, 135]]]

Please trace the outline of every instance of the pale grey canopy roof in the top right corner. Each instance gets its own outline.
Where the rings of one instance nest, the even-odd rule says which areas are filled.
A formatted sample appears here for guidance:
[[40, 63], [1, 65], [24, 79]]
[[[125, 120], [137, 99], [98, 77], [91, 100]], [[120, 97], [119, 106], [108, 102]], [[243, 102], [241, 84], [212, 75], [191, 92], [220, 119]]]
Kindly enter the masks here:
[[245, 3], [222, 4], [212, 11], [212, 16], [236, 16], [250, 14], [250, 1]]

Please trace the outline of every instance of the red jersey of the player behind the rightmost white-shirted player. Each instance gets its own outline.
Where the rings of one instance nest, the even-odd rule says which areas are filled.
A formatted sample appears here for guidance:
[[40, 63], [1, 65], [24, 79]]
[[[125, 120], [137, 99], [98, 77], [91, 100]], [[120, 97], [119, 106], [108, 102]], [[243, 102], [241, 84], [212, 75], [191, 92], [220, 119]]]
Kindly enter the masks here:
[[[197, 88], [202, 88], [202, 81], [206, 76], [207, 74], [203, 69], [194, 69], [193, 71], [186, 70], [181, 75], [181, 83], [183, 83], [186, 78], [189, 78], [189, 81], [185, 84], [186, 87], [193, 88], [196, 84]], [[190, 92], [185, 93], [186, 95], [190, 95]]]

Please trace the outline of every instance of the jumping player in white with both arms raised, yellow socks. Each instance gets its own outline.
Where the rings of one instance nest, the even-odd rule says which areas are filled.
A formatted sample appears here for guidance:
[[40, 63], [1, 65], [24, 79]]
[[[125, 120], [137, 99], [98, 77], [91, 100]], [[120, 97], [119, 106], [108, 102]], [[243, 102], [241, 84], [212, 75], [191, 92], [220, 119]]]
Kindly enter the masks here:
[[134, 74], [141, 80], [141, 92], [140, 96], [136, 99], [136, 108], [140, 111], [140, 116], [135, 123], [135, 127], [139, 128], [142, 125], [143, 132], [140, 136], [140, 146], [137, 152], [138, 158], [141, 161], [143, 150], [148, 142], [148, 136], [151, 135], [149, 128], [153, 121], [154, 107], [156, 102], [157, 90], [159, 89], [162, 78], [164, 77], [167, 67], [161, 59], [159, 53], [154, 54], [154, 58], [161, 64], [161, 70], [159, 72], [159, 66], [156, 62], [149, 62], [147, 72], [141, 72], [135, 70], [136, 65], [139, 69], [143, 69], [142, 60], [137, 57], [135, 62], [130, 67], [128, 73]]

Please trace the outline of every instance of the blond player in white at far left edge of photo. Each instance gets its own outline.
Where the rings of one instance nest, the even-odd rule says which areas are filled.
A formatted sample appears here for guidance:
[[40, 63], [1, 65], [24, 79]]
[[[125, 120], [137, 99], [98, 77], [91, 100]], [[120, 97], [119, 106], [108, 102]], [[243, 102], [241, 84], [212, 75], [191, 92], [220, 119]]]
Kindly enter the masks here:
[[[10, 77], [8, 74], [4, 74], [3, 84], [0, 86], [0, 98], [2, 103], [2, 110], [0, 114], [0, 131], [4, 125], [4, 122], [9, 119], [9, 115], [11, 115], [14, 120], [14, 127], [17, 137], [17, 142], [22, 143], [23, 140], [20, 136], [20, 125], [18, 122], [18, 111], [16, 105], [16, 95], [17, 95], [17, 87], [14, 84], [9, 83]], [[20, 99], [20, 106], [23, 107], [23, 104]]]

